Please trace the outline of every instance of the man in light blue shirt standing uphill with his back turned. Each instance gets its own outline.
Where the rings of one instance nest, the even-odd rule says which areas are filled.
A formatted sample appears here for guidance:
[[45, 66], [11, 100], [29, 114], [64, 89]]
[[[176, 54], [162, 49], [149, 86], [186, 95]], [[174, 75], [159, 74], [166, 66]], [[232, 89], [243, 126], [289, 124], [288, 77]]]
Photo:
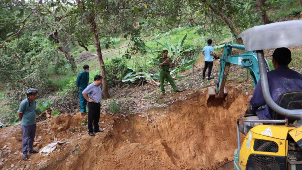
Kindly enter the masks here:
[[202, 54], [204, 55], [204, 70], [202, 72], [202, 79], [205, 79], [205, 74], [207, 71], [207, 67], [209, 66], [208, 71], [208, 80], [213, 79], [211, 77], [212, 67], [213, 67], [213, 55], [214, 55], [214, 47], [212, 47], [212, 40], [207, 40], [207, 46], [202, 50]]

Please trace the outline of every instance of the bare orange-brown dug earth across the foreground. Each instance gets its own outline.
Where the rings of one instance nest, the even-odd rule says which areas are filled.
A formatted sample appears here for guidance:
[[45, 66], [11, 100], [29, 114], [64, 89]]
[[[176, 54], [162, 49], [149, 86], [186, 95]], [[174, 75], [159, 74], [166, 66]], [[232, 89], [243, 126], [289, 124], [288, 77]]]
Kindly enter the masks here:
[[22, 160], [21, 127], [0, 130], [0, 169], [214, 169], [233, 159], [236, 119], [246, 108], [246, 95], [228, 88], [226, 102], [205, 105], [205, 90], [168, 108], [141, 114], [101, 115], [103, 133], [91, 137], [87, 117], [63, 114], [37, 124], [35, 148], [65, 141], [49, 156]]

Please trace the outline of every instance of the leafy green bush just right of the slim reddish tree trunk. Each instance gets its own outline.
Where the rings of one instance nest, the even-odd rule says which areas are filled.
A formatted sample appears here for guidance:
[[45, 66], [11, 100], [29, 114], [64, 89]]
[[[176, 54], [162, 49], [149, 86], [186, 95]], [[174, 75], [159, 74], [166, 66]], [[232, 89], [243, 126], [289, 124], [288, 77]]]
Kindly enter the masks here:
[[105, 70], [109, 87], [119, 85], [120, 80], [127, 73], [127, 61], [123, 57], [107, 59], [105, 61]]

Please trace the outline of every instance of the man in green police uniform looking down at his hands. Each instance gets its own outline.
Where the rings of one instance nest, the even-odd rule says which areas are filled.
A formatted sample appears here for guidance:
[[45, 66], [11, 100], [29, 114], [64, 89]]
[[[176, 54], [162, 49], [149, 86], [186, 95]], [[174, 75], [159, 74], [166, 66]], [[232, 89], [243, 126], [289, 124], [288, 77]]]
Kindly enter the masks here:
[[162, 91], [162, 95], [165, 95], [165, 89], [164, 89], [164, 81], [167, 79], [167, 81], [172, 86], [173, 90], [176, 92], [182, 92], [182, 90], [178, 90], [177, 86], [175, 85], [171, 75], [170, 75], [170, 67], [172, 66], [172, 60], [168, 57], [168, 50], [162, 51], [162, 57], [159, 58], [159, 68], [160, 68], [160, 89]]

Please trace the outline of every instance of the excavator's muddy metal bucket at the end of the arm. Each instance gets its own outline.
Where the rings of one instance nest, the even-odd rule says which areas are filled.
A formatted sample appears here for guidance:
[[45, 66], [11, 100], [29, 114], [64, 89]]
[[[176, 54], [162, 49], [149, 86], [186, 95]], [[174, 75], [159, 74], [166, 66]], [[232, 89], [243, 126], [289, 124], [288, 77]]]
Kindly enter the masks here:
[[227, 96], [226, 88], [223, 89], [223, 94], [220, 95], [216, 93], [215, 87], [208, 87], [207, 88], [207, 96], [206, 96], [206, 105], [207, 106], [216, 106], [218, 104], [221, 104], [225, 101], [225, 98]]

